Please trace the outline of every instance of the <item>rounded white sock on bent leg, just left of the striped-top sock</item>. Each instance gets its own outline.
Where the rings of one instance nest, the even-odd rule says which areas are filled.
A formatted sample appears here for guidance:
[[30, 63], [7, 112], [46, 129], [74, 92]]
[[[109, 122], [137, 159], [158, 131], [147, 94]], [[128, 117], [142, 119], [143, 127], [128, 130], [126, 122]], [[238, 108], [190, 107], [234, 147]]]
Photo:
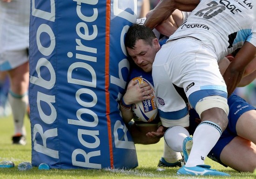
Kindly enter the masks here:
[[189, 131], [182, 126], [168, 128], [164, 133], [167, 145], [176, 152], [182, 152], [183, 141], [186, 137], [189, 137]]

